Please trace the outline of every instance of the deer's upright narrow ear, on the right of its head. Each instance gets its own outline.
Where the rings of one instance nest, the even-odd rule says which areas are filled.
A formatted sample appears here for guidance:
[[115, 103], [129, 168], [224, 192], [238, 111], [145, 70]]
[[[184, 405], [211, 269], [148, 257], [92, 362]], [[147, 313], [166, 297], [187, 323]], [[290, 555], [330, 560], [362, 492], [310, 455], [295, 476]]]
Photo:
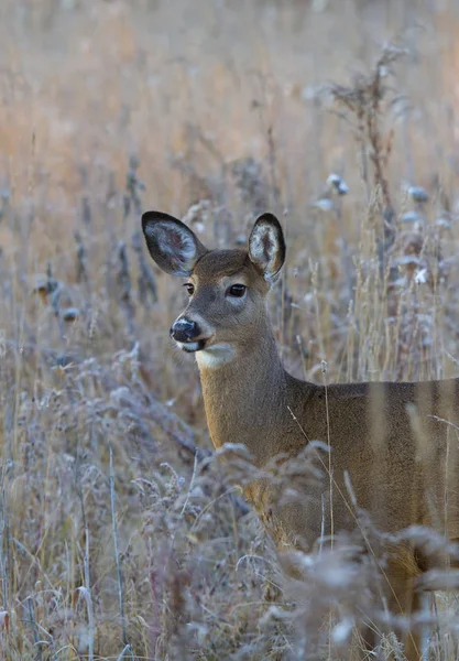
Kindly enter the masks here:
[[284, 232], [273, 214], [260, 216], [249, 238], [250, 261], [273, 283], [285, 260]]

